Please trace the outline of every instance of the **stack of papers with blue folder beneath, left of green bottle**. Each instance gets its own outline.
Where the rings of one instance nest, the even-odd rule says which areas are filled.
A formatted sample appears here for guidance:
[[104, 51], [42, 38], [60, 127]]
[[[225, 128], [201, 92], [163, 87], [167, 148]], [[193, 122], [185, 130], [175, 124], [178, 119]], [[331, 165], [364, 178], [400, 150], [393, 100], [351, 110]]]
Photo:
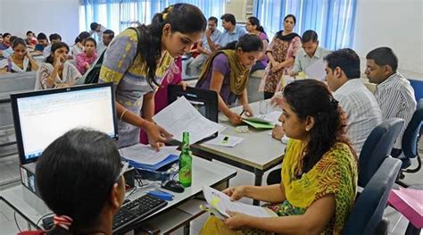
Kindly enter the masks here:
[[160, 151], [143, 144], [119, 149], [120, 156], [135, 168], [157, 171], [162, 166], [178, 161], [178, 147], [161, 147]]

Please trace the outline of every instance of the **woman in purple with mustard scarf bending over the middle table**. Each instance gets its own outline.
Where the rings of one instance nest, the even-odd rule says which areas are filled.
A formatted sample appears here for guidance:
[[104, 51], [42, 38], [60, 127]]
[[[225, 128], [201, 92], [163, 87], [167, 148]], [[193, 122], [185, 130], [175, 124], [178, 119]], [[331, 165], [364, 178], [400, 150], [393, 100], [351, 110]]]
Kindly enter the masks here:
[[214, 90], [219, 94], [219, 110], [234, 125], [242, 123], [241, 116], [228, 107], [236, 104], [236, 98], [243, 105], [245, 114], [253, 115], [248, 105], [246, 85], [250, 69], [260, 57], [262, 49], [261, 38], [245, 34], [239, 41], [229, 43], [207, 59], [195, 85], [196, 88]]

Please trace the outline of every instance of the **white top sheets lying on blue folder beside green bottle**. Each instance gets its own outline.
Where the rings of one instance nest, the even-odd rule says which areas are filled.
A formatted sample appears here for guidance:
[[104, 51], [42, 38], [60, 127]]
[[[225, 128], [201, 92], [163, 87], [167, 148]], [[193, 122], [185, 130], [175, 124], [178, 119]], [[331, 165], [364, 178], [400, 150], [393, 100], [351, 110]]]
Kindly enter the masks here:
[[162, 162], [169, 155], [178, 155], [176, 146], [165, 146], [161, 147], [160, 151], [153, 147], [146, 146], [143, 144], [137, 144], [131, 147], [123, 147], [119, 149], [121, 156], [125, 157], [130, 161], [134, 161], [140, 164], [158, 164]]

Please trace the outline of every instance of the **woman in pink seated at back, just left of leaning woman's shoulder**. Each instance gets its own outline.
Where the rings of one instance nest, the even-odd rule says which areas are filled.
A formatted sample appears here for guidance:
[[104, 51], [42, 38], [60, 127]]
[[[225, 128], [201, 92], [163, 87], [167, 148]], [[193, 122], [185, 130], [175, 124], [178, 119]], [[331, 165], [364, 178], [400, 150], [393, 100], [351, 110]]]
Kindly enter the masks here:
[[86, 38], [84, 40], [84, 52], [79, 53], [75, 58], [75, 65], [78, 71], [84, 75], [96, 59], [97, 43], [94, 38]]

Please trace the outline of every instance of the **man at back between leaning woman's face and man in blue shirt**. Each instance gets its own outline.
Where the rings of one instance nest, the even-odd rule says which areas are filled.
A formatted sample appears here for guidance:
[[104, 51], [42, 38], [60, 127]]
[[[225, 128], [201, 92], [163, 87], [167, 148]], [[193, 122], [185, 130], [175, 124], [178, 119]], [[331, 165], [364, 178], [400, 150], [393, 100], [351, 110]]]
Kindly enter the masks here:
[[216, 29], [218, 26], [218, 19], [214, 16], [209, 18], [207, 24], [207, 30], [205, 30], [205, 35], [201, 42], [198, 43], [196, 52], [200, 53], [194, 59], [191, 59], [191, 62], [187, 63], [187, 75], [198, 76], [203, 67], [203, 63], [207, 60], [209, 55], [211, 55], [211, 49], [209, 43], [207, 42], [206, 35], [210, 35], [211, 43], [215, 44], [220, 40], [221, 32], [219, 29]]

